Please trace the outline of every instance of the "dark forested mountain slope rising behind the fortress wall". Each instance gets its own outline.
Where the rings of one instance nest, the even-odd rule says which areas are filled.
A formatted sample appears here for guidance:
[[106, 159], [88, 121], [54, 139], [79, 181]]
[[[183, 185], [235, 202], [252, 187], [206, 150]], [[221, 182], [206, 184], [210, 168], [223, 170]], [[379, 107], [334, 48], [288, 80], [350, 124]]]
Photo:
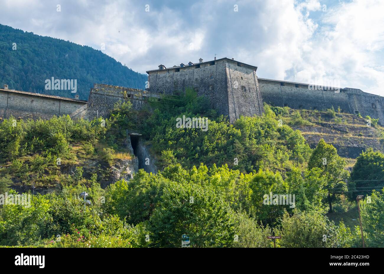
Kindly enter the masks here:
[[51, 77], [77, 79], [82, 100], [88, 100], [94, 83], [144, 89], [147, 80], [100, 50], [0, 24], [0, 86], [73, 97], [69, 90], [45, 90], [45, 80]]

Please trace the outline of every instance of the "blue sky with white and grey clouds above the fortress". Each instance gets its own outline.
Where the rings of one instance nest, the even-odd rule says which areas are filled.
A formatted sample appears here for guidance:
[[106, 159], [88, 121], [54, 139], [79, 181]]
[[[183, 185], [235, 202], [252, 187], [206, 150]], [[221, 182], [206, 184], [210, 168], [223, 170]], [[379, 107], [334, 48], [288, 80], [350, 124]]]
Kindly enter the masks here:
[[142, 73], [217, 54], [258, 66], [261, 78], [384, 96], [383, 0], [0, 0], [0, 10], [1, 24], [105, 44]]

